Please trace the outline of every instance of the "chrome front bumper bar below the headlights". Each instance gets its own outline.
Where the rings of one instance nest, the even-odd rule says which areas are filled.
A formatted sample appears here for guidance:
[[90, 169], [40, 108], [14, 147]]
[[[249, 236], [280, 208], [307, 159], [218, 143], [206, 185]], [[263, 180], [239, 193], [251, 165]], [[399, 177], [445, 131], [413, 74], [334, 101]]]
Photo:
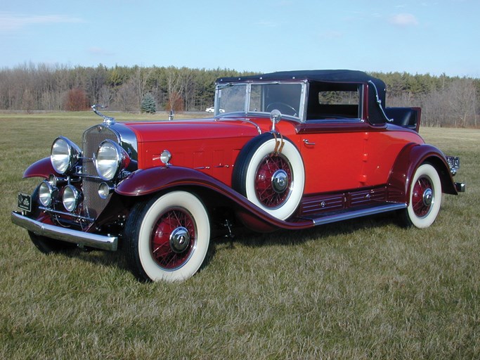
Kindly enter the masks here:
[[44, 224], [40, 221], [30, 219], [30, 217], [25, 217], [19, 212], [12, 212], [11, 220], [13, 224], [27, 229], [28, 231], [32, 231], [39, 236], [45, 236], [46, 238], [53, 238], [56, 240], [66, 241], [67, 243], [74, 243], [81, 247], [87, 246], [90, 248], [110, 251], [117, 250], [117, 236], [104, 236], [96, 233], [84, 233], [83, 231]]

